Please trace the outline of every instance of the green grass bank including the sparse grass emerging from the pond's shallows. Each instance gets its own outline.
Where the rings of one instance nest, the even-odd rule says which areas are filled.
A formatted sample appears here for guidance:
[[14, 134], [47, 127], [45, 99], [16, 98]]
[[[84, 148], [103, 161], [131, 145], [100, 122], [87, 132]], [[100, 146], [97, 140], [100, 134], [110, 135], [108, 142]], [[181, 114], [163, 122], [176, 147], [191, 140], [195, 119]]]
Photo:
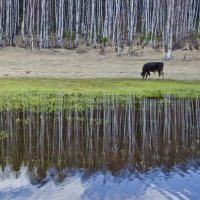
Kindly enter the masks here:
[[0, 109], [84, 110], [143, 97], [200, 97], [200, 82], [140, 79], [0, 79]]

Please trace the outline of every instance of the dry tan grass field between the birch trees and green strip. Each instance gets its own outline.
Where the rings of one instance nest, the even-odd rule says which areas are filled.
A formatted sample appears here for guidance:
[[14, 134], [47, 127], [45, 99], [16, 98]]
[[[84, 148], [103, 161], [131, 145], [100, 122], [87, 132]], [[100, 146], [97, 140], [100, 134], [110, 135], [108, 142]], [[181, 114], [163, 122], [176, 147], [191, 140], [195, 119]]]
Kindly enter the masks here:
[[[0, 77], [141, 78], [145, 62], [163, 61], [162, 51], [147, 47], [133, 56], [127, 49], [117, 56], [110, 47], [104, 55], [100, 55], [100, 49], [86, 51], [80, 54], [66, 49], [1, 48]], [[200, 51], [174, 51], [173, 60], [163, 62], [165, 79], [200, 81]]]

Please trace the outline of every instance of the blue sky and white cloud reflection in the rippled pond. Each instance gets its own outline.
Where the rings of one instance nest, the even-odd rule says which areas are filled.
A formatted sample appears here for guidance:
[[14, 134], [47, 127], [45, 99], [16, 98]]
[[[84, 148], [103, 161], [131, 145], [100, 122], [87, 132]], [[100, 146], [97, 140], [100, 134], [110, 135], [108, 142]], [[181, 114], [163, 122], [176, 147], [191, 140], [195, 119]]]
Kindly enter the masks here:
[[64, 181], [49, 179], [39, 187], [32, 185], [29, 172], [22, 167], [19, 175], [6, 169], [0, 171], [1, 200], [198, 200], [200, 199], [200, 168], [174, 169], [147, 173], [108, 172], [86, 175], [76, 171]]

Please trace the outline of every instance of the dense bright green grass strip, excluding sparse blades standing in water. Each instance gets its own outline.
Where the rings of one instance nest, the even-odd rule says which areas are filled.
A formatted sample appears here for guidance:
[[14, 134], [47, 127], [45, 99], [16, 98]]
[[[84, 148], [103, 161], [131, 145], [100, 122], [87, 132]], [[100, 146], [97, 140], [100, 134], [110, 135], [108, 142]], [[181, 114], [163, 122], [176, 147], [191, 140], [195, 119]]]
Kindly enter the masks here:
[[0, 79], [0, 94], [51, 92], [83, 95], [131, 95], [136, 97], [200, 96], [200, 81], [141, 79]]

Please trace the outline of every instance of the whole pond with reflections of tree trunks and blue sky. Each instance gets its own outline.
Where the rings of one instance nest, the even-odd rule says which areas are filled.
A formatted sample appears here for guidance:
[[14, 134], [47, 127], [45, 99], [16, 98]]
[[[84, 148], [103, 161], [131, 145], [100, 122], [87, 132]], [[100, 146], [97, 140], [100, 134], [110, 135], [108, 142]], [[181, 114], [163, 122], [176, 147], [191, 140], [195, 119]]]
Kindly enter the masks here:
[[1, 110], [0, 199], [199, 198], [199, 98], [63, 99]]

